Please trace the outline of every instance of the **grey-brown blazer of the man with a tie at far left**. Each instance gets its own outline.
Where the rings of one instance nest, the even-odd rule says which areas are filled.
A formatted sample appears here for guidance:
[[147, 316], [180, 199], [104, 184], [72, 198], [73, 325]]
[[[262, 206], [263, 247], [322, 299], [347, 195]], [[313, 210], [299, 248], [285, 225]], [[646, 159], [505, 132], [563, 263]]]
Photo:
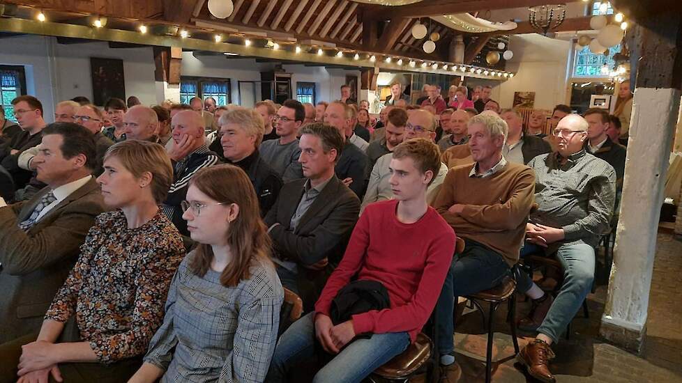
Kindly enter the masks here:
[[17, 222], [49, 191], [45, 187], [28, 201], [0, 208], [0, 344], [40, 330], [95, 217], [105, 211], [91, 178], [24, 232]]

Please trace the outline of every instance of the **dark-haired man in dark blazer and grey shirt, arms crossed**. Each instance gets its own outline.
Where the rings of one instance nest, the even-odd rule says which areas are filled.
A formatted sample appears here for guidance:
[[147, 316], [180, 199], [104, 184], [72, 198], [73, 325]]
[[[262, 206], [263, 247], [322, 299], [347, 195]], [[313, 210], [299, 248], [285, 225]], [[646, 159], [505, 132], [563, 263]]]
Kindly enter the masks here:
[[308, 308], [340, 262], [360, 212], [360, 200], [334, 173], [343, 141], [330, 125], [305, 125], [298, 159], [305, 178], [284, 185], [265, 217], [282, 286]]

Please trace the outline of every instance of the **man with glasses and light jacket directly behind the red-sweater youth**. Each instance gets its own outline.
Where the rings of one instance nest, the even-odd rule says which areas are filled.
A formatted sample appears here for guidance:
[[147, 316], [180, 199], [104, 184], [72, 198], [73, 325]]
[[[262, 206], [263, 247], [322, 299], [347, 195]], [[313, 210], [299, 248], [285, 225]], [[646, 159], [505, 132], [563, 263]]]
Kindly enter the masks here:
[[[400, 111], [400, 113], [405, 113], [400, 109], [397, 110]], [[391, 114], [393, 113], [394, 112], [391, 111]], [[436, 116], [423, 109], [417, 109], [409, 114], [409, 117], [407, 118], [404, 139], [405, 141], [409, 139], [427, 139], [434, 142], [437, 125], [438, 121], [436, 120]], [[391, 129], [391, 127], [393, 127], [393, 125], [391, 125], [389, 121], [387, 128]], [[393, 187], [390, 182], [392, 159], [393, 153], [388, 153], [379, 157], [377, 163], [374, 164], [370, 175], [370, 183], [367, 186], [365, 198], [363, 198], [361, 213], [365, 211], [365, 208], [367, 208], [367, 205], [370, 203], [393, 199]], [[434, 201], [447, 174], [448, 166], [441, 162], [438, 173], [434, 175], [433, 181], [426, 190], [427, 203], [431, 204]]]

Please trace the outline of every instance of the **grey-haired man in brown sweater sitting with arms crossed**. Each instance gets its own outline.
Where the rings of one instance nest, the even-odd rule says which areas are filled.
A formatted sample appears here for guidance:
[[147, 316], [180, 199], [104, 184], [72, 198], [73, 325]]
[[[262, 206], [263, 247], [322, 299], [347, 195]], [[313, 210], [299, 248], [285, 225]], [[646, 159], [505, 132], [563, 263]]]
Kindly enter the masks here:
[[[473, 164], [450, 169], [434, 207], [464, 238], [437, 304], [438, 351], [443, 375], [456, 382], [453, 345], [454, 297], [496, 286], [517, 263], [533, 203], [535, 175], [504, 159], [508, 127], [498, 116], [478, 115], [468, 123]], [[442, 375], [441, 375], [442, 376]]]

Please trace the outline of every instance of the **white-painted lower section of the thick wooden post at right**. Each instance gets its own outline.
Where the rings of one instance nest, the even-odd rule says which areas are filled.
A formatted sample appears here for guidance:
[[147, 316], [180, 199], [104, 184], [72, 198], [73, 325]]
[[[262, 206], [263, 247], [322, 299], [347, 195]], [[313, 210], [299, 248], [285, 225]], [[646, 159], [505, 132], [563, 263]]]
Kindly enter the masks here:
[[639, 351], [646, 334], [665, 174], [681, 92], [637, 88], [626, 159], [614, 265], [600, 334]]

